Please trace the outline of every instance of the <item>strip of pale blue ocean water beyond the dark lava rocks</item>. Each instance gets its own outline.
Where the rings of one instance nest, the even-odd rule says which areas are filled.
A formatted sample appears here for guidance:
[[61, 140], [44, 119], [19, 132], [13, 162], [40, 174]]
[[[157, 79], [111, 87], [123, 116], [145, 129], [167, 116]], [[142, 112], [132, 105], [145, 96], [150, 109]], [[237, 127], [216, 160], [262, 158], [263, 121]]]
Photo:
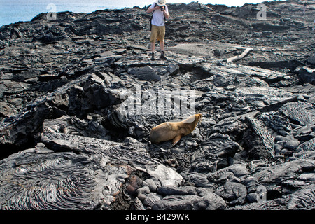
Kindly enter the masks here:
[[[263, 0], [167, 0], [167, 3], [225, 4], [242, 6], [244, 3], [260, 3]], [[74, 13], [92, 13], [106, 8], [144, 8], [155, 0], [0, 0], [0, 27], [13, 22], [29, 21], [39, 13], [71, 11]], [[51, 5], [53, 4], [53, 5]]]

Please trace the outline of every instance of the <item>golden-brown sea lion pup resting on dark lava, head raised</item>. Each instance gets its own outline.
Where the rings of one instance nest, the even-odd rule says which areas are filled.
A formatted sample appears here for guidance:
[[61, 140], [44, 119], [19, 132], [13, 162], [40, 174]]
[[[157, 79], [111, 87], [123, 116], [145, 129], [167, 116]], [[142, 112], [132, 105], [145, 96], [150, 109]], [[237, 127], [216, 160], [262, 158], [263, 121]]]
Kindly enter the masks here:
[[186, 120], [180, 122], [165, 122], [156, 127], [153, 127], [150, 133], [150, 141], [153, 144], [158, 144], [162, 141], [172, 141], [172, 148], [181, 140], [181, 137], [190, 134], [195, 130], [198, 122], [201, 120], [202, 114], [197, 113], [190, 116]]

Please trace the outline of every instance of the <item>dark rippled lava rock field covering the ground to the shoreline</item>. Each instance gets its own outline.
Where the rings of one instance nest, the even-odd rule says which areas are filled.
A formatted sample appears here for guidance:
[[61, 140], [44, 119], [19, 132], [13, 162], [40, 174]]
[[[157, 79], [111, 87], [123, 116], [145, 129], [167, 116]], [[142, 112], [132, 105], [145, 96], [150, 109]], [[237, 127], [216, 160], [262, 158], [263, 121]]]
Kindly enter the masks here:
[[315, 4], [265, 5], [170, 4], [167, 61], [145, 8], [1, 27], [0, 209], [314, 209]]

